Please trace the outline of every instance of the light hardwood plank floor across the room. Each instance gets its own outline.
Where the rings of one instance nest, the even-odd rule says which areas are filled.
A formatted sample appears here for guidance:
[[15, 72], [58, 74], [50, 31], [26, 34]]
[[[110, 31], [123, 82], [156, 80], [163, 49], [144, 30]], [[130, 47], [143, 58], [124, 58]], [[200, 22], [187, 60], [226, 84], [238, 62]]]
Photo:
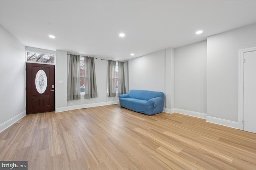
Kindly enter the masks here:
[[256, 134], [108, 105], [26, 115], [0, 133], [0, 160], [29, 170], [255, 170]]

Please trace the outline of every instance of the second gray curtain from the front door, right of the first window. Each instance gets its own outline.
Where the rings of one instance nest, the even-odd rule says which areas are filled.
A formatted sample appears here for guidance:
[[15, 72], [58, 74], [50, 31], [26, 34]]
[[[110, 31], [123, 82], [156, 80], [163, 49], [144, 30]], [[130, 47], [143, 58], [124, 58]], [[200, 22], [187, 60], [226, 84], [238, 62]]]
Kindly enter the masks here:
[[93, 57], [84, 57], [85, 71], [85, 94], [84, 98], [98, 97], [96, 75]]

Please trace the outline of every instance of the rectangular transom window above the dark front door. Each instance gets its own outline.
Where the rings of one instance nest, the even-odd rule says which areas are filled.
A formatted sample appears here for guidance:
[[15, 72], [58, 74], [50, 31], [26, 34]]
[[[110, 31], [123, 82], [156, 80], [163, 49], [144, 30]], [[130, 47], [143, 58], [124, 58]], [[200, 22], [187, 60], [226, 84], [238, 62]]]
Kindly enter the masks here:
[[53, 54], [44, 54], [38, 52], [27, 51], [26, 52], [26, 60], [29, 62], [38, 62], [38, 63], [55, 63], [55, 55]]

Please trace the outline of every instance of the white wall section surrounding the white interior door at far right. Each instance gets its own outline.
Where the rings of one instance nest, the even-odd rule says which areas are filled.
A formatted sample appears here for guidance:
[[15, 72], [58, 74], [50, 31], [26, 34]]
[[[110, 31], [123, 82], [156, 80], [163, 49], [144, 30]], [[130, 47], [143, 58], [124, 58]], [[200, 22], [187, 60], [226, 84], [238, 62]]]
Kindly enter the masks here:
[[[238, 50], [256, 46], [256, 24], [207, 38], [206, 121], [238, 122]], [[217, 119], [216, 119], [217, 118]], [[224, 121], [225, 122], [225, 121]]]

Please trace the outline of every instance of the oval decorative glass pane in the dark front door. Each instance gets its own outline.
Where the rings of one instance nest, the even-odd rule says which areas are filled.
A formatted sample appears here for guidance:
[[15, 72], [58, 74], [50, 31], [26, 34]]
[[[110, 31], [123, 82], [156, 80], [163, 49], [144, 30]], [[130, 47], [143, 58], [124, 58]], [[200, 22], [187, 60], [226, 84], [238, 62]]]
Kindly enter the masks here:
[[47, 87], [47, 77], [44, 70], [39, 70], [36, 73], [35, 83], [36, 83], [36, 90], [38, 91], [38, 93], [40, 94], [44, 93]]

